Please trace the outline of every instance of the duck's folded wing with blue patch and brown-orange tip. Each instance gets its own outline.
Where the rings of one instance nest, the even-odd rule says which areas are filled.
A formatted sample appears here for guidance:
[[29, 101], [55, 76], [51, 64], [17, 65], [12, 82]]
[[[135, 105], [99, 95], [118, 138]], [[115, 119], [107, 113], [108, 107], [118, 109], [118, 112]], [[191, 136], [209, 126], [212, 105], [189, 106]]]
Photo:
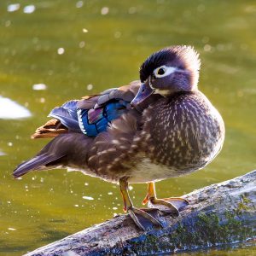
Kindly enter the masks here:
[[57, 137], [69, 131], [96, 137], [107, 130], [113, 119], [131, 110], [130, 103], [140, 84], [134, 81], [119, 88], [104, 90], [99, 95], [65, 102], [49, 113], [53, 119], [38, 127], [32, 138]]

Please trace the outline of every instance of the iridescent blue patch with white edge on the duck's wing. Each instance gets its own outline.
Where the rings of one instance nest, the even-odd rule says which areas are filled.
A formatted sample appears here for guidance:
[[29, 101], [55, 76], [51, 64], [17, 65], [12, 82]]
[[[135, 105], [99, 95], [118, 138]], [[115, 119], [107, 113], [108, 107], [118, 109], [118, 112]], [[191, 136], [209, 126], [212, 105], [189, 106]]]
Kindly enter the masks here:
[[126, 113], [130, 102], [112, 100], [101, 108], [78, 108], [78, 119], [81, 131], [87, 136], [96, 137], [100, 132], [106, 131], [113, 119]]

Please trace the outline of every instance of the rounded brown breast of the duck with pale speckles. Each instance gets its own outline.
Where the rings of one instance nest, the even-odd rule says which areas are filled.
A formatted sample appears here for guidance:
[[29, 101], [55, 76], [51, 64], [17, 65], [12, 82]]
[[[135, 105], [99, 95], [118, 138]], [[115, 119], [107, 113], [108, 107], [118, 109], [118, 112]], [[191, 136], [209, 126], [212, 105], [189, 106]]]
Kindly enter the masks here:
[[146, 155], [168, 166], [170, 177], [206, 166], [224, 143], [223, 119], [199, 91], [161, 99], [143, 118]]

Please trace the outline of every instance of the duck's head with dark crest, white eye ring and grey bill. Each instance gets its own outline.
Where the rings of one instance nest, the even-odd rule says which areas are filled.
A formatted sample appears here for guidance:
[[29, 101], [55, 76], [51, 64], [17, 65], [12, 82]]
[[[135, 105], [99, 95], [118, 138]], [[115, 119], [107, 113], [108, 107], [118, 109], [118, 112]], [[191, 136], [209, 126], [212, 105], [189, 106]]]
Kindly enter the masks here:
[[150, 55], [140, 68], [142, 85], [131, 104], [137, 106], [148, 96], [170, 96], [178, 91], [197, 90], [201, 61], [191, 46], [172, 46]]

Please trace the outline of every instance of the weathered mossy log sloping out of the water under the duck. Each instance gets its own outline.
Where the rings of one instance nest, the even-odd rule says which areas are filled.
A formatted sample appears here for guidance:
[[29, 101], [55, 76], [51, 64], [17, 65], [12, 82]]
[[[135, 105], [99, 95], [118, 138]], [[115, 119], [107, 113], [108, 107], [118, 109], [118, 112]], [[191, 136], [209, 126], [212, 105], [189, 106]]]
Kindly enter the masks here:
[[147, 255], [176, 253], [256, 237], [256, 171], [197, 189], [183, 198], [179, 217], [163, 213], [163, 229], [138, 230], [128, 215], [82, 230], [27, 253], [35, 255]]

